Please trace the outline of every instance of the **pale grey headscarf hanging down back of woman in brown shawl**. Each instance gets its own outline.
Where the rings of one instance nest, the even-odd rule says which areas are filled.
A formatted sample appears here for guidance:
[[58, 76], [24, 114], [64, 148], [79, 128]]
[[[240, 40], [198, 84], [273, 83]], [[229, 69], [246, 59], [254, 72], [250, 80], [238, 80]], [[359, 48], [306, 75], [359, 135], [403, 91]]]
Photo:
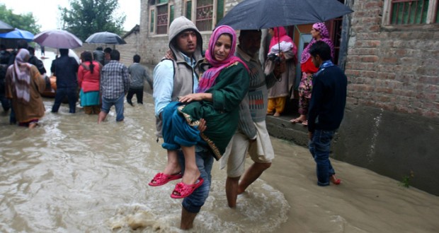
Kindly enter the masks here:
[[17, 99], [23, 103], [30, 100], [30, 67], [28, 49], [20, 49], [13, 62], [12, 83], [16, 88]]

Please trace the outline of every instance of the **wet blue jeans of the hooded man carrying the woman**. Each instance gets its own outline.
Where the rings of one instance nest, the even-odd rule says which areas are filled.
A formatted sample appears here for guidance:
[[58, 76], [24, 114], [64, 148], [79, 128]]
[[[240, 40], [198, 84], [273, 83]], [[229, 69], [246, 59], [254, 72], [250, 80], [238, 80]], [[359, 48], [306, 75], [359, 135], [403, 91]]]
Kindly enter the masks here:
[[[184, 173], [184, 156], [183, 153], [178, 154], [180, 161], [181, 172]], [[212, 171], [213, 165], [213, 155], [208, 151], [200, 151], [195, 153], [195, 162], [197, 163], [198, 169], [201, 173], [201, 178], [204, 179], [203, 184], [195, 189], [190, 196], [183, 199], [183, 208], [185, 208], [190, 213], [200, 212], [201, 207], [204, 205], [207, 196], [209, 196], [210, 191], [210, 181], [212, 176], [210, 172]]]

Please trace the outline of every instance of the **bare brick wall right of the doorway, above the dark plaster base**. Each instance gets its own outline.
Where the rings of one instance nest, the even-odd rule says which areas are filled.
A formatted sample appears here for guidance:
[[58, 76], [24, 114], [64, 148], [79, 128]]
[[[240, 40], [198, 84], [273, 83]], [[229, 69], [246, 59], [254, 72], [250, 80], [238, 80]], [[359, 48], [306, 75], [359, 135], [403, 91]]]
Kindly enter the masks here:
[[383, 1], [355, 1], [348, 102], [439, 117], [439, 25], [382, 25]]

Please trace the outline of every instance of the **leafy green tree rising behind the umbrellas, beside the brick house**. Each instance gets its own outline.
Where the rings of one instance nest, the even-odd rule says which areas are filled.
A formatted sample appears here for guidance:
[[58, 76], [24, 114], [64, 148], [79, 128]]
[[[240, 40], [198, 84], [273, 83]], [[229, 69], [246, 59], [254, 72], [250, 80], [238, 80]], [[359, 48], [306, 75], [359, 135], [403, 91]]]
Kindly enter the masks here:
[[59, 7], [62, 28], [81, 40], [95, 32], [113, 32], [122, 35], [125, 14], [118, 16], [118, 0], [69, 0], [70, 8]]

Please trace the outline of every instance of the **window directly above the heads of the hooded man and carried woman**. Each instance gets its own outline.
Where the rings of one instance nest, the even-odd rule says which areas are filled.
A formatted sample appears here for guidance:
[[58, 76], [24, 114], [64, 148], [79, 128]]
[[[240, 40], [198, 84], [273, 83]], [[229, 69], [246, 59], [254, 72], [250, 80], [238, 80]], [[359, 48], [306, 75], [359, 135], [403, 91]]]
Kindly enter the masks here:
[[224, 16], [224, 0], [186, 0], [184, 16], [200, 31], [212, 31]]

